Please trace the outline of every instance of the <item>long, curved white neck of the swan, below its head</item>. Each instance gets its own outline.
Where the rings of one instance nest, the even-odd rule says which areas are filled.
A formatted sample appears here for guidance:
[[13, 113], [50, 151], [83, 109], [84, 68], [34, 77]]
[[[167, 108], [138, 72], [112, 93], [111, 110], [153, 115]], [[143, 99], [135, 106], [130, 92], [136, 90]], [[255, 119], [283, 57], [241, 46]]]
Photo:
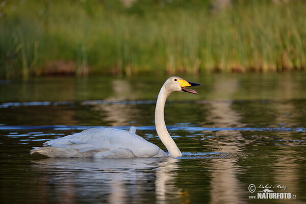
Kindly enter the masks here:
[[169, 156], [180, 157], [182, 153], [179, 147], [176, 146], [175, 142], [169, 135], [164, 119], [164, 109], [167, 97], [170, 95], [170, 91], [167, 91], [163, 86], [160, 93], [158, 94], [156, 108], [155, 108], [155, 126], [158, 136], [160, 137], [163, 144], [166, 146]]

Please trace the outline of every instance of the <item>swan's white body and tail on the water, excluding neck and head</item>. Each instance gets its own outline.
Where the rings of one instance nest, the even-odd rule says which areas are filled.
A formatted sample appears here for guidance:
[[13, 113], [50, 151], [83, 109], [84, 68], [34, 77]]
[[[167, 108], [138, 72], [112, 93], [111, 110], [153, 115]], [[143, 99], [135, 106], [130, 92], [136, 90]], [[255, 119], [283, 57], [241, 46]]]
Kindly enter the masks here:
[[130, 132], [112, 128], [92, 128], [81, 133], [47, 141], [43, 147], [31, 151], [47, 157], [78, 158], [135, 158], [165, 157], [157, 145]]

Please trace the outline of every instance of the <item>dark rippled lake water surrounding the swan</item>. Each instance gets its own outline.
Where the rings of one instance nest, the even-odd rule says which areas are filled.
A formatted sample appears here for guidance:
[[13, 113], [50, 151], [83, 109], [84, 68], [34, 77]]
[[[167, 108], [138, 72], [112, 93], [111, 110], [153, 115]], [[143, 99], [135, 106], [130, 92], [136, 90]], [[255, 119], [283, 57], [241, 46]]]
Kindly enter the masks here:
[[165, 149], [154, 126], [164, 77], [0, 81], [0, 202], [305, 203], [306, 74], [182, 77], [201, 84], [199, 95], [169, 96], [165, 120], [183, 156], [162, 159], [30, 150], [92, 126], [132, 125]]

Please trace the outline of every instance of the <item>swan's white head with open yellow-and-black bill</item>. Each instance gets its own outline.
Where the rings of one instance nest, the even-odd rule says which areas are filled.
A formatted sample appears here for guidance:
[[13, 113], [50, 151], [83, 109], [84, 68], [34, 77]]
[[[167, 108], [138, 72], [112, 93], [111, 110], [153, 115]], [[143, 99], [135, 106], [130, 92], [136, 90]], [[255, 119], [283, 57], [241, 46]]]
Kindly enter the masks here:
[[188, 93], [198, 94], [195, 90], [186, 89], [190, 86], [200, 86], [197, 83], [187, 82], [186, 80], [180, 77], [170, 77], [164, 84], [165, 88], [169, 91], [184, 91]]

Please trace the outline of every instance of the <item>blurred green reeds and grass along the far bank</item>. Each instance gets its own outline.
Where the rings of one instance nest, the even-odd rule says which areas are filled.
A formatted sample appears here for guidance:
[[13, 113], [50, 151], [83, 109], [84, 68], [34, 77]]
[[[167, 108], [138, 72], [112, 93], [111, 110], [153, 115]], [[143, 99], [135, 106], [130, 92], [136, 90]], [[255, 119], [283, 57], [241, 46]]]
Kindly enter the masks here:
[[306, 2], [0, 3], [0, 76], [306, 68]]

